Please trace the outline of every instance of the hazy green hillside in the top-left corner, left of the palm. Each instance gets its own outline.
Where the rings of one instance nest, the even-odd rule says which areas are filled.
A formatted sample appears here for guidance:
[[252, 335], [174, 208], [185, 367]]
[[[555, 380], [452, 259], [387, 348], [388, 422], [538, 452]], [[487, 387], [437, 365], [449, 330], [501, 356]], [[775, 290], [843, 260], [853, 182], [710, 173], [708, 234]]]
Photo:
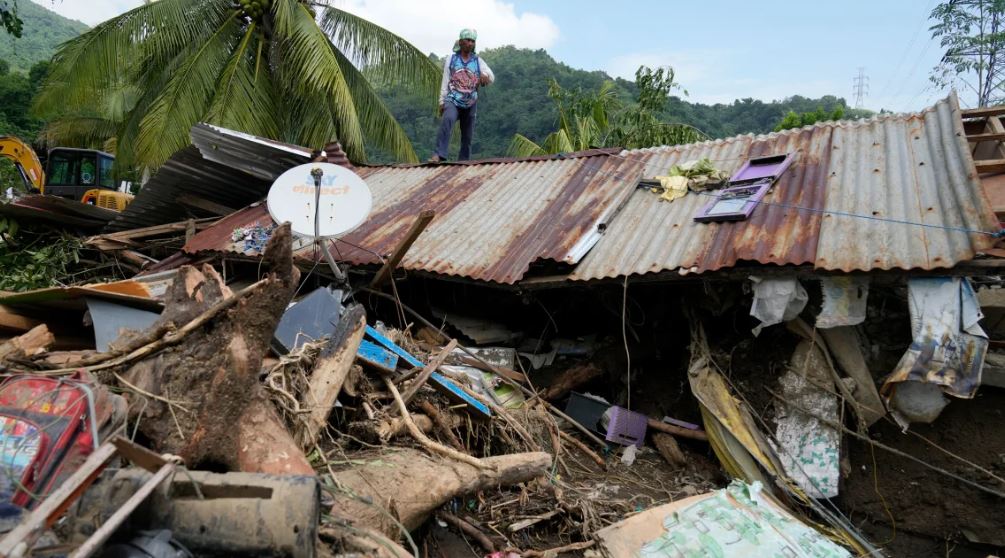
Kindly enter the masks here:
[[87, 29], [31, 0], [18, 0], [17, 15], [24, 22], [21, 38], [0, 33], [0, 60], [6, 60], [11, 71], [27, 73], [35, 62], [51, 58], [59, 43]]

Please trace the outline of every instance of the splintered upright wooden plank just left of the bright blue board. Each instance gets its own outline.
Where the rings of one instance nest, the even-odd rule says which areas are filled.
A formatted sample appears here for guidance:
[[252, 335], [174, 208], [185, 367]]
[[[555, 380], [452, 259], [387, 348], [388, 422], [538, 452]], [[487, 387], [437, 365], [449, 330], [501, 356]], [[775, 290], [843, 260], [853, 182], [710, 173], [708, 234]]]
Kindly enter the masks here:
[[304, 432], [307, 438], [300, 440], [301, 447], [313, 447], [328, 424], [328, 415], [356, 360], [366, 327], [367, 315], [363, 307], [357, 305], [348, 309], [339, 320], [332, 338], [318, 355], [304, 401], [311, 413], [307, 417], [308, 427]]

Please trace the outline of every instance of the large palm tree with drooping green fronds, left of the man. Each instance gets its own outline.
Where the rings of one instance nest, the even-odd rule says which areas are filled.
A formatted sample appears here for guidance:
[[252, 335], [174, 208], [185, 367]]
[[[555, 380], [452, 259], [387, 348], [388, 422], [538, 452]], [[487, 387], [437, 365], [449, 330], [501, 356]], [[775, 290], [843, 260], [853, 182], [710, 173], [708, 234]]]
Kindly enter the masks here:
[[437, 77], [407, 41], [327, 1], [159, 0], [61, 45], [35, 110], [55, 120], [51, 141], [114, 132], [120, 165], [159, 166], [197, 122], [416, 161], [371, 80], [418, 87], [432, 105]]

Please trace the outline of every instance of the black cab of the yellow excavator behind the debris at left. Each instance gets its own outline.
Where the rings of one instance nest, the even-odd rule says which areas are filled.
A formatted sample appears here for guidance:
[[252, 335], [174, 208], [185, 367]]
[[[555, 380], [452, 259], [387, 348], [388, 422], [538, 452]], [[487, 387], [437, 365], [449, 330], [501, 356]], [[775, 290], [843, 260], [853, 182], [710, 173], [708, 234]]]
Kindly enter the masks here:
[[44, 193], [79, 201], [90, 190], [115, 191], [115, 161], [104, 151], [53, 148], [45, 162]]

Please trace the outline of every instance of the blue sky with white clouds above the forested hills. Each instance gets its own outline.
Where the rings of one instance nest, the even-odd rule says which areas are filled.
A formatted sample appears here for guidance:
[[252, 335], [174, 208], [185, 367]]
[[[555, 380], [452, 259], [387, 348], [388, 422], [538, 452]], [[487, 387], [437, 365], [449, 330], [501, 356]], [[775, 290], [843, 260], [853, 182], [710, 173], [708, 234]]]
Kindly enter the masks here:
[[[33, 1], [88, 25], [143, 3]], [[471, 27], [480, 49], [544, 48], [572, 67], [628, 79], [640, 64], [670, 65], [695, 103], [834, 95], [854, 106], [859, 68], [866, 109], [918, 111], [948, 95], [928, 78], [941, 56], [928, 20], [938, 0], [330, 1], [423, 52], [445, 54]], [[961, 103], [968, 105], [963, 91]]]

